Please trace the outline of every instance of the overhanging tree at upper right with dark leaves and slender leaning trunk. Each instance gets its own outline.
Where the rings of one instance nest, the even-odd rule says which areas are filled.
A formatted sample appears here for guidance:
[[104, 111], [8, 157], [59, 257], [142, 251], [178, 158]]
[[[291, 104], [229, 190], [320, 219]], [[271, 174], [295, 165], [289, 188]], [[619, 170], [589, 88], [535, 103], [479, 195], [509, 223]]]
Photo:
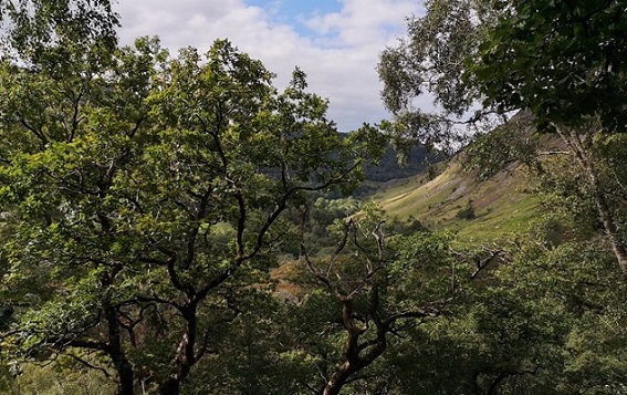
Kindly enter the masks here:
[[[412, 133], [415, 126], [404, 119], [415, 118], [408, 108], [425, 85], [449, 114], [462, 115], [481, 101], [483, 110], [471, 123], [485, 113], [529, 111], [539, 129], [564, 139], [586, 174], [603, 230], [627, 273], [624, 237], [589, 153], [597, 136], [627, 127], [625, 1], [441, 0], [427, 6], [427, 14], [410, 22], [410, 43], [382, 55], [384, 101], [398, 118], [393, 129]], [[463, 22], [459, 28], [449, 23], [457, 19]], [[456, 73], [447, 73], [446, 65]], [[430, 123], [416, 127], [432, 131]]]

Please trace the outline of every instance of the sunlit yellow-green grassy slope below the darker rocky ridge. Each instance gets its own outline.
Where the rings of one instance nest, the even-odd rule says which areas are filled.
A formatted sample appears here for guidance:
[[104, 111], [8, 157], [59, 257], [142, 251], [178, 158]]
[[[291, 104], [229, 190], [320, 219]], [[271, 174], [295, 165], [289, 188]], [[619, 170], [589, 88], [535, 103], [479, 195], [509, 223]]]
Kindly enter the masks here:
[[[520, 165], [511, 165], [494, 177], [479, 181], [464, 171], [456, 159], [433, 180], [424, 174], [388, 183], [374, 195], [391, 216], [410, 216], [431, 229], [451, 229], [460, 241], [487, 242], [505, 233], [524, 231], [542, 209], [537, 199], [525, 190], [531, 180]], [[472, 202], [476, 218], [457, 214]]]

